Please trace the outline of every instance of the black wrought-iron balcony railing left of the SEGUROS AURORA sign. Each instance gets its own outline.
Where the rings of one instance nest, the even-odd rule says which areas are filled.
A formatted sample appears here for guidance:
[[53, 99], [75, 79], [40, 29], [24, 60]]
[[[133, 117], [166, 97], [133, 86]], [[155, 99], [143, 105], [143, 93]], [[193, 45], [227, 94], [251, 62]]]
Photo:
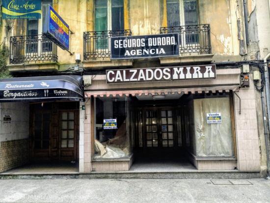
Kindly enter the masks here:
[[110, 58], [110, 38], [129, 35], [130, 29], [83, 32], [83, 59]]

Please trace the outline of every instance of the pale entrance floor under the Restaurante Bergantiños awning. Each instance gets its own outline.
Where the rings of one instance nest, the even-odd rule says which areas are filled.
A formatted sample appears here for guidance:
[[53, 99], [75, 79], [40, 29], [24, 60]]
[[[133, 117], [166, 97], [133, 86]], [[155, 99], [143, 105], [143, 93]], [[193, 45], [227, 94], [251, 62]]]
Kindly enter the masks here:
[[79, 166], [72, 163], [28, 164], [1, 174], [77, 174]]

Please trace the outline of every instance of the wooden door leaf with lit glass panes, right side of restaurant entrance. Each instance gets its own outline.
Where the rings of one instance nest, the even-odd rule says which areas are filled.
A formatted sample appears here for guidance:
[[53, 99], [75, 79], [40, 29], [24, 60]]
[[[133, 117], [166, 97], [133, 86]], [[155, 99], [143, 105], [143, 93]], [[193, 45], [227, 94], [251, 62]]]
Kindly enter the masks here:
[[59, 159], [77, 160], [78, 111], [59, 111]]

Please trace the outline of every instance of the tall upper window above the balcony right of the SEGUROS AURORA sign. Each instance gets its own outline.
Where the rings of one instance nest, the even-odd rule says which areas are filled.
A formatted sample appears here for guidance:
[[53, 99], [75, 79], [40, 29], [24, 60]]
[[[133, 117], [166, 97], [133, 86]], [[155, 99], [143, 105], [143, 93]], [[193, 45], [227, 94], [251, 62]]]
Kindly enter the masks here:
[[167, 0], [167, 25], [198, 25], [197, 0]]

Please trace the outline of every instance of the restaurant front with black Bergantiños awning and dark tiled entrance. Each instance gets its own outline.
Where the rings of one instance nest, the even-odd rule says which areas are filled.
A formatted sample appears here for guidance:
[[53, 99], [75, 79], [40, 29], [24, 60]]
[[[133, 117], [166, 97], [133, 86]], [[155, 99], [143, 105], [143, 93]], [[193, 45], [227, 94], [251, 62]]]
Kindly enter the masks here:
[[25, 164], [78, 164], [82, 84], [77, 75], [0, 81], [1, 146], [9, 152], [3, 154], [1, 171]]

